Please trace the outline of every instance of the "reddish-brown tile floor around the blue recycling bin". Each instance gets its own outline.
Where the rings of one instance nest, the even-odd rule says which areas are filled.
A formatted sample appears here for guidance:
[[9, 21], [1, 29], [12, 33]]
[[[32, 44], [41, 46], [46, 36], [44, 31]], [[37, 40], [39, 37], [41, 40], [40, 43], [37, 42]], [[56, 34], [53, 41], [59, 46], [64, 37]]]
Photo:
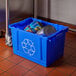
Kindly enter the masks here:
[[14, 55], [0, 38], [0, 76], [76, 76], [76, 34], [67, 33], [64, 57], [48, 68]]

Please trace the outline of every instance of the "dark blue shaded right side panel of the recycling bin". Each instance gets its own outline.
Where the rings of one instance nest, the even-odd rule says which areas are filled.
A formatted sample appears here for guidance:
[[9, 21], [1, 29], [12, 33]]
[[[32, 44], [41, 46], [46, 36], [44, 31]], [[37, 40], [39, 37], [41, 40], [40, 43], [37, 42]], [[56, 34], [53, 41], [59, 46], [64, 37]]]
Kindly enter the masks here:
[[65, 32], [61, 32], [48, 40], [47, 65], [59, 59], [64, 54]]

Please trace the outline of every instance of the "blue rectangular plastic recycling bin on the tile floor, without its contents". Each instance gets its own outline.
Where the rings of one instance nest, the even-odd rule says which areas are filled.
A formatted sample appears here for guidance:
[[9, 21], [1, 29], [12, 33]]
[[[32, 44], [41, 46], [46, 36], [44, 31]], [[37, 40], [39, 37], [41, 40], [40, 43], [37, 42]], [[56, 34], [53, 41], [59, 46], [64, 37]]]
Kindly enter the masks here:
[[[57, 32], [43, 37], [24, 31], [24, 27], [33, 20], [41, 22], [44, 26], [52, 25]], [[27, 18], [9, 25], [12, 34], [13, 52], [42, 66], [49, 66], [64, 54], [65, 35], [68, 27], [49, 23], [35, 18]]]

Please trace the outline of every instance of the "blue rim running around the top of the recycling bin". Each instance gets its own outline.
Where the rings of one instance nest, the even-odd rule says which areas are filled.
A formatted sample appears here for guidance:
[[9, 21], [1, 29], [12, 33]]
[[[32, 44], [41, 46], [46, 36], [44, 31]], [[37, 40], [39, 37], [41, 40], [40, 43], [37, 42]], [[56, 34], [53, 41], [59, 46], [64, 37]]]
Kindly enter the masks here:
[[[44, 21], [44, 20], [36, 19], [36, 18], [33, 18], [33, 17], [28, 17], [28, 18], [26, 18], [26, 19], [24, 19], [24, 20], [21, 20], [21, 21], [19, 21], [19, 22], [9, 24], [9, 28], [10, 28], [10, 29], [14, 28], [14, 29], [17, 29], [17, 30], [21, 30], [21, 29], [12, 27], [12, 25], [15, 25], [15, 24], [17, 24], [17, 23], [20, 23], [20, 22], [22, 22], [22, 21], [26, 21], [26, 20], [28, 20], [28, 19], [43, 21], [43, 22], [49, 23], [49, 24], [51, 25], [51, 22], [47, 22], [47, 21]], [[53, 24], [55, 24], [55, 23], [53, 23]], [[58, 25], [58, 24], [57, 24], [57, 25]], [[36, 35], [38, 35], [38, 36], [45, 37], [45, 38], [52, 38], [52, 37], [56, 36], [57, 34], [61, 33], [62, 31], [68, 32], [68, 30], [69, 30], [69, 29], [68, 29], [68, 26], [64, 26], [64, 25], [60, 25], [60, 26], [63, 26], [64, 28], [61, 29], [61, 30], [59, 30], [59, 31], [56, 31], [55, 33], [53, 33], [52, 35], [49, 35], [49, 36], [38, 35], [38, 34], [36, 34], [36, 33], [32, 33], [32, 34], [34, 34], [34, 35], [36, 34]], [[24, 31], [24, 30], [21, 30], [21, 31]], [[24, 32], [27, 32], [27, 31], [24, 31]], [[31, 32], [28, 32], [28, 33], [31, 34]]]

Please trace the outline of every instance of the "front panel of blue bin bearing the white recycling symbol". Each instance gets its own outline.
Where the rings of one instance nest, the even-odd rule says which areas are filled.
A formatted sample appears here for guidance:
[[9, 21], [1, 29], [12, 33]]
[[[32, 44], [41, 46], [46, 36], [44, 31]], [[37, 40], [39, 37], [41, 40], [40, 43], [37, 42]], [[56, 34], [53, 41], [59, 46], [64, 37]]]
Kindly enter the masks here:
[[40, 37], [26, 32], [18, 32], [18, 51], [25, 56], [41, 59]]

